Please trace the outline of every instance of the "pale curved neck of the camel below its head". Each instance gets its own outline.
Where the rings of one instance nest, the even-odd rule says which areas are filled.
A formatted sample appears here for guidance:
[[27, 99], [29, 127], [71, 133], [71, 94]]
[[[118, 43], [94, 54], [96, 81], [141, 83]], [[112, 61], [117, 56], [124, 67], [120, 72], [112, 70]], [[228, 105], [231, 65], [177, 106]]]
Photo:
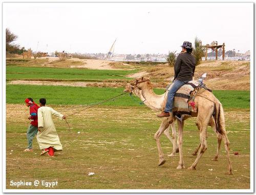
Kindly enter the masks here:
[[155, 107], [157, 110], [161, 110], [165, 94], [162, 94], [162, 95], [155, 94], [152, 86], [148, 86], [148, 85], [144, 86], [141, 89], [141, 94], [143, 98], [146, 99], [146, 102], [148, 105]]

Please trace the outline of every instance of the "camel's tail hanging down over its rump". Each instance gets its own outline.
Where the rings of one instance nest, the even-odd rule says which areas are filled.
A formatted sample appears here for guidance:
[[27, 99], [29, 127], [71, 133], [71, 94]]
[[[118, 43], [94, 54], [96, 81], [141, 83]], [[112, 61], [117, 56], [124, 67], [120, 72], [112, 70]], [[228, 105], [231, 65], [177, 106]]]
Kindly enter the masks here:
[[215, 103], [215, 124], [217, 132], [222, 133], [225, 130], [225, 118], [222, 104], [217, 101]]

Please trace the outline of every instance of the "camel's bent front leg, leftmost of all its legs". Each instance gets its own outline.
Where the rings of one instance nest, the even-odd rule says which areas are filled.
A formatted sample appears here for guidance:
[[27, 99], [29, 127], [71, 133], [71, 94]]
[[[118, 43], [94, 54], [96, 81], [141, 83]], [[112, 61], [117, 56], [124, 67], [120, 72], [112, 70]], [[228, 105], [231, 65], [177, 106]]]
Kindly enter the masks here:
[[154, 138], [157, 142], [157, 149], [158, 149], [158, 155], [159, 155], [159, 163], [158, 163], [159, 166], [161, 166], [165, 163], [163, 151], [162, 151], [161, 144], [160, 144], [160, 136], [162, 135], [162, 133], [165, 131], [165, 129], [168, 126], [169, 126], [168, 119], [164, 118], [158, 131], [156, 132], [156, 134], [154, 136]]

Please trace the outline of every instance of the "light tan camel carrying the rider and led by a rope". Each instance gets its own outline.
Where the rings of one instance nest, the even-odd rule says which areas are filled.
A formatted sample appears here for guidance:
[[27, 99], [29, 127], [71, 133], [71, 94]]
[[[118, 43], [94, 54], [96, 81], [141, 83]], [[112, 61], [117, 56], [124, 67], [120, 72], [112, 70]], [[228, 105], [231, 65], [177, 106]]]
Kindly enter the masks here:
[[[144, 99], [146, 99], [146, 102], [148, 105], [154, 105], [158, 110], [163, 110], [166, 103], [166, 92], [162, 95], [156, 95], [153, 91], [153, 85], [150, 81], [150, 79], [141, 77], [138, 79], [135, 79], [130, 83], [133, 88], [138, 88], [141, 90], [141, 95]], [[194, 163], [188, 168], [188, 169], [196, 169], [197, 163], [205, 150], [207, 149], [207, 125], [209, 124], [214, 128], [214, 131], [216, 131], [218, 136], [218, 148], [217, 148], [217, 155], [216, 158], [218, 159], [218, 153], [219, 153], [219, 146], [221, 143], [221, 140], [224, 139], [225, 144], [225, 150], [227, 154], [227, 160], [228, 160], [228, 175], [232, 175], [232, 166], [231, 161], [229, 157], [229, 140], [227, 138], [227, 133], [225, 129], [225, 119], [224, 119], [224, 111], [222, 104], [220, 101], [209, 91], [201, 89], [199, 93], [195, 96], [194, 99], [196, 103], [196, 109], [197, 112], [191, 112], [191, 117], [197, 117], [196, 125], [199, 129], [200, 134], [200, 145], [199, 145], [199, 153], [197, 155], [196, 160]], [[175, 113], [174, 113], [175, 114]], [[179, 134], [179, 165], [177, 169], [185, 168], [184, 166], [184, 160], [183, 160], [183, 154], [182, 154], [182, 133], [183, 133], [183, 127], [184, 127], [184, 120], [189, 118], [188, 116], [185, 116], [182, 121], [178, 120], [178, 134]], [[166, 117], [163, 119], [157, 133], [155, 134], [155, 139], [157, 142], [158, 152], [159, 152], [159, 162], [164, 163], [165, 160], [163, 158], [163, 152], [161, 149], [159, 138], [161, 134], [168, 128], [168, 126], [172, 123], [174, 123], [174, 115], [171, 115], [170, 117]], [[217, 160], [216, 159], [216, 160]]]

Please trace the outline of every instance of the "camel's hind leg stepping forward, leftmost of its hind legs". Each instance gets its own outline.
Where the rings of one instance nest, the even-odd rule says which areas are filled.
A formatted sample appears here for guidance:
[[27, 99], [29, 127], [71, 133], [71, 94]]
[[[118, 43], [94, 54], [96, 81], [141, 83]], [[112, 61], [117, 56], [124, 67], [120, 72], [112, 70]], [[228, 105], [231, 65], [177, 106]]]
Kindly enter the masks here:
[[199, 159], [201, 158], [201, 156], [204, 154], [204, 152], [207, 149], [207, 142], [206, 142], [207, 126], [208, 126], [208, 122], [209, 122], [210, 118], [211, 118], [211, 112], [209, 112], [209, 111], [201, 112], [201, 114], [198, 113], [196, 124], [199, 128], [199, 133], [200, 133], [200, 150], [199, 150], [199, 154], [197, 155], [195, 162], [188, 169], [196, 169]]

